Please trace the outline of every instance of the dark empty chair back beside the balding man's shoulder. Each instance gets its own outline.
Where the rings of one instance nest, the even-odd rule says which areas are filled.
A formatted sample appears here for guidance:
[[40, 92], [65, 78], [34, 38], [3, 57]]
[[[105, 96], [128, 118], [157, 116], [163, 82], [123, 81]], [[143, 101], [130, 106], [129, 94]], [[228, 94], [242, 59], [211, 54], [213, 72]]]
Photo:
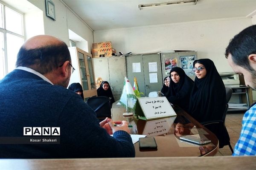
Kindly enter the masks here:
[[106, 117], [111, 118], [111, 104], [107, 96], [93, 96], [88, 98], [86, 103], [95, 111], [99, 121]]

